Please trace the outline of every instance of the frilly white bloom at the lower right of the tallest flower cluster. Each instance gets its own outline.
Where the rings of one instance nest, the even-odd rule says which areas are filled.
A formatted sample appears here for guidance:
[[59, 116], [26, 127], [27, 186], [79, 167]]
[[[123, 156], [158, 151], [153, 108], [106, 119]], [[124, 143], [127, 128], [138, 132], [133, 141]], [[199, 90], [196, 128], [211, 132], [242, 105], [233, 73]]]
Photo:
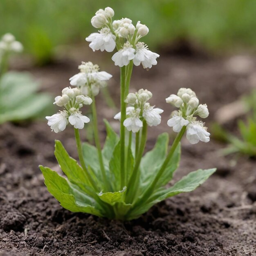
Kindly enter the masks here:
[[144, 43], [137, 43], [136, 54], [133, 59], [133, 63], [135, 66], [139, 66], [140, 63], [144, 68], [151, 68], [152, 65], [157, 65], [156, 58], [158, 58], [160, 55], [155, 52], [151, 52], [147, 48], [148, 46]]

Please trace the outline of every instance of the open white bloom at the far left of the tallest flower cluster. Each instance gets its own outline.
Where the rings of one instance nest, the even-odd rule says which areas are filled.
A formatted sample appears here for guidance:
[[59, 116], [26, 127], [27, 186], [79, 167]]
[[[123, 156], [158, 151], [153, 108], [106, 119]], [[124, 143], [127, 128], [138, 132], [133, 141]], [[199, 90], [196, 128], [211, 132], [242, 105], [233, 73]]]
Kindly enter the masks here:
[[92, 33], [85, 38], [87, 42], [91, 42], [89, 47], [95, 52], [95, 50], [101, 50], [103, 52], [113, 52], [116, 47], [116, 36], [113, 35], [109, 28], [104, 27], [99, 33]]

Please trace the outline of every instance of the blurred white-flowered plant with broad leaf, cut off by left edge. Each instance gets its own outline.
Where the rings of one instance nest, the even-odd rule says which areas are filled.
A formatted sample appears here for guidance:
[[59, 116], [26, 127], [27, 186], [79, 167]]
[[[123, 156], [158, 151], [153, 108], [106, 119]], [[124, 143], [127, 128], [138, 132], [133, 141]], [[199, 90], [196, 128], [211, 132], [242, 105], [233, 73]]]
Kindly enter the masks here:
[[12, 34], [0, 40], [0, 124], [36, 117], [52, 100], [48, 94], [36, 94], [39, 85], [30, 74], [7, 72], [9, 56], [22, 49]]

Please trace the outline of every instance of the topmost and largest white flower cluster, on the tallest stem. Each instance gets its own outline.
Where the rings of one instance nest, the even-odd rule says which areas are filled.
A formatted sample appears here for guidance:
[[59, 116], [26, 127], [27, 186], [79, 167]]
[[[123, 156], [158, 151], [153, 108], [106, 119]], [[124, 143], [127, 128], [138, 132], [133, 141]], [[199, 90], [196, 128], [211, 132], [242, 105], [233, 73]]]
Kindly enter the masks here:
[[99, 33], [92, 33], [85, 38], [92, 50], [112, 52], [117, 47], [118, 52], [112, 56], [112, 61], [119, 67], [128, 65], [130, 61], [135, 66], [142, 64], [144, 68], [156, 65], [159, 54], [151, 52], [145, 43], [139, 42], [141, 37], [148, 34], [148, 27], [140, 21], [135, 27], [129, 18], [112, 22], [113, 16], [113, 9], [106, 7], [105, 10], [99, 9], [92, 17], [92, 26], [100, 28]]

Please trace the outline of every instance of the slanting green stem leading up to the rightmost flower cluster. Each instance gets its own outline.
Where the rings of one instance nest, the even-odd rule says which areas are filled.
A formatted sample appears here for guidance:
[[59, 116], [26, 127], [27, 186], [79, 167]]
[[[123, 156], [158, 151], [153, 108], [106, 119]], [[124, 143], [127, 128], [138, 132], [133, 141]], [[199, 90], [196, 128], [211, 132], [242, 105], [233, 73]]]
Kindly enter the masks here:
[[164, 173], [164, 171], [166, 169], [166, 166], [168, 165], [171, 158], [173, 157], [173, 153], [175, 152], [175, 149], [179, 145], [179, 142], [182, 139], [182, 136], [184, 135], [185, 131], [186, 131], [186, 126], [183, 126], [181, 131], [178, 133], [175, 140], [173, 141], [173, 145], [171, 146], [170, 151], [169, 151], [168, 155], [166, 156], [166, 159], [164, 160], [164, 163], [162, 164], [160, 170], [158, 171], [157, 175], [155, 176], [155, 179], [153, 180], [151, 185], [148, 187], [148, 189], [145, 191], [145, 193], [142, 195], [141, 199], [139, 199], [136, 202], [136, 204], [134, 205], [132, 210], [136, 209], [141, 203], [146, 202], [147, 199], [150, 197], [150, 195], [153, 193], [157, 182], [159, 181], [160, 177], [162, 176], [162, 174]]

